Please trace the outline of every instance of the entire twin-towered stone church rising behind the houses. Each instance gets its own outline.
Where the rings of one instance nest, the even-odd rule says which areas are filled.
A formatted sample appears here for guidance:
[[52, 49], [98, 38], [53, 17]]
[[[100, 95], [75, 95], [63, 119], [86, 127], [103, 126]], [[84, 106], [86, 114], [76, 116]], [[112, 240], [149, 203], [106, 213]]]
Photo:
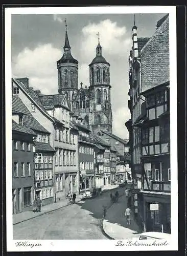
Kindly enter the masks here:
[[89, 64], [89, 87], [83, 88], [81, 82], [81, 88], [78, 89], [78, 61], [71, 54], [67, 26], [64, 53], [57, 61], [57, 69], [58, 92], [67, 95], [72, 112], [81, 116], [83, 124], [95, 134], [100, 129], [112, 133], [110, 64], [102, 55], [100, 40], [96, 57]]

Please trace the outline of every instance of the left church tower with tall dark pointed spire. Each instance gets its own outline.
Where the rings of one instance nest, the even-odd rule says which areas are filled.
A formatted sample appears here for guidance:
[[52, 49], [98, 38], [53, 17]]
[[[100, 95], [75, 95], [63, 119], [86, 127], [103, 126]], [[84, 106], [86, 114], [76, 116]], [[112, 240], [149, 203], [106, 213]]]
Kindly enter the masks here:
[[58, 69], [58, 92], [66, 93], [72, 108], [72, 100], [75, 99], [78, 90], [78, 61], [71, 54], [65, 20], [65, 44], [64, 53], [57, 61]]

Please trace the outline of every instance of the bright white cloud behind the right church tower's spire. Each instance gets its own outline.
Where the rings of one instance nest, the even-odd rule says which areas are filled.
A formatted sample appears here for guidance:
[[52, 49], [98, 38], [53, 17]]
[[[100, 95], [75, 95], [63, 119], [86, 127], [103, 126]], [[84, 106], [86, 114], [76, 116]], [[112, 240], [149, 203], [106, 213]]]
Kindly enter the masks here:
[[104, 56], [120, 55], [124, 47], [130, 45], [130, 40], [126, 37], [126, 27], [119, 27], [116, 22], [112, 23], [110, 19], [102, 20], [98, 24], [89, 23], [82, 29], [83, 38], [81, 42], [81, 52], [86, 63], [96, 55], [95, 49], [98, 44], [96, 34], [98, 32]]

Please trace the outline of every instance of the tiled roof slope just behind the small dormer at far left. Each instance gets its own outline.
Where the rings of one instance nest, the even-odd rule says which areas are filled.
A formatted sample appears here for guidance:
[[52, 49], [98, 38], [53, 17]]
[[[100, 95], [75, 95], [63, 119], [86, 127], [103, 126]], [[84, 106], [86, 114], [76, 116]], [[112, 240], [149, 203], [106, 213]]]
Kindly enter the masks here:
[[48, 133], [48, 134], [50, 133], [32, 116], [32, 114], [27, 109], [26, 105], [21, 101], [18, 95], [12, 96], [12, 106], [13, 106], [13, 113], [18, 113], [19, 109], [21, 109], [21, 112], [24, 112], [24, 116], [23, 116], [24, 125], [27, 126], [29, 129]]

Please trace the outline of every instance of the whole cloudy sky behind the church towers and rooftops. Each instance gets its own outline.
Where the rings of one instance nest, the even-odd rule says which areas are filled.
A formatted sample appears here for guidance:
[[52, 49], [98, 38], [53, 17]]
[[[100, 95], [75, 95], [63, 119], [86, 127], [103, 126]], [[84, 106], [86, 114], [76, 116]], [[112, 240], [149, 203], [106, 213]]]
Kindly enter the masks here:
[[[137, 37], [151, 37], [165, 14], [135, 14]], [[58, 93], [57, 60], [63, 55], [65, 23], [71, 52], [79, 61], [78, 83], [89, 86], [89, 63], [96, 56], [97, 33], [110, 63], [113, 134], [128, 139], [128, 57], [134, 14], [12, 14], [12, 76], [28, 77], [43, 94]]]

